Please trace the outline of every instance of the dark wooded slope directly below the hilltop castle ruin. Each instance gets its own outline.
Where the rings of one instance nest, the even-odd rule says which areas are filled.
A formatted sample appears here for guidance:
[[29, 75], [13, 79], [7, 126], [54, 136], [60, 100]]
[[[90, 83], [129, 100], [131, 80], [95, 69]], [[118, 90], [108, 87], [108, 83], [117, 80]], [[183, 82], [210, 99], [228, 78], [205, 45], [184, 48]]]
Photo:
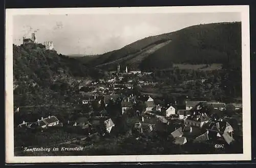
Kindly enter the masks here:
[[89, 77], [92, 74], [95, 77], [101, 75], [97, 69], [88, 68], [56, 51], [46, 50], [42, 44], [13, 45], [16, 106], [50, 103], [53, 93], [61, 94], [60, 91], [65, 91], [76, 82], [75, 77]]

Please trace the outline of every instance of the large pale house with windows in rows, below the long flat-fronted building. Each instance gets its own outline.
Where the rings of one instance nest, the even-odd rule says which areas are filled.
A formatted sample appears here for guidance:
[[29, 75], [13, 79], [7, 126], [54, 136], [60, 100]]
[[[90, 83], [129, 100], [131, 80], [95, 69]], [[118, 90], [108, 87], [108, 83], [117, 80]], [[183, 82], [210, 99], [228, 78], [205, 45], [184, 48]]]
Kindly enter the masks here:
[[204, 123], [208, 123], [210, 118], [205, 114], [190, 115], [184, 119], [184, 124], [187, 126], [202, 127]]

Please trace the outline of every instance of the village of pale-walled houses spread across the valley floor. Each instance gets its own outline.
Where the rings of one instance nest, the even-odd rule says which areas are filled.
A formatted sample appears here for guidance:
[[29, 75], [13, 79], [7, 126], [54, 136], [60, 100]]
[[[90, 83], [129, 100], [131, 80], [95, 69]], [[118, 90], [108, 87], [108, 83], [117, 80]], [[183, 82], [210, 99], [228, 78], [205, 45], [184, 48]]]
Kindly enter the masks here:
[[[87, 143], [88, 138], [115, 137], [124, 132], [125, 138], [139, 141], [144, 135], [160, 136], [164, 134], [174, 145], [185, 143], [212, 143], [212, 145], [229, 146], [236, 141], [237, 125], [232, 117], [218, 113], [226, 110], [226, 104], [217, 101], [185, 100], [159, 103], [159, 98], [141, 94], [137, 88], [157, 87], [158, 82], [148, 81], [145, 76], [152, 73], [129, 71], [127, 66], [123, 70], [120, 65], [110, 76], [97, 81], [79, 80], [76, 89], [78, 101], [74, 105], [79, 107], [72, 117], [58, 118], [58, 114], [49, 113], [41, 116], [37, 121], [24, 119], [17, 125], [17, 129], [47, 132], [51, 128], [79, 130], [80, 140], [64, 139], [60, 144], [72, 144], [78, 141]], [[134, 80], [136, 77], [136, 81]], [[205, 79], [204, 79], [205, 80]], [[202, 82], [204, 82], [202, 80]], [[242, 106], [234, 106], [234, 113]], [[15, 114], [20, 113], [22, 107], [17, 107]], [[72, 109], [71, 109], [72, 110]], [[27, 115], [26, 115], [27, 116]], [[37, 115], [38, 116], [38, 115]], [[124, 117], [125, 116], [125, 117]], [[33, 118], [33, 117], [32, 117]], [[122, 121], [121, 119], [122, 118]], [[124, 126], [125, 125], [125, 126]], [[128, 128], [127, 128], [128, 127]], [[236, 128], [233, 128], [236, 127]], [[80, 136], [81, 135], [81, 136]], [[121, 135], [120, 135], [121, 136]], [[152, 136], [150, 136], [152, 137]], [[79, 138], [78, 138], [79, 139]], [[67, 141], [67, 143], [65, 142]], [[79, 143], [81, 146], [82, 143]], [[88, 143], [87, 143], [88, 144]], [[97, 145], [90, 143], [90, 145]]]

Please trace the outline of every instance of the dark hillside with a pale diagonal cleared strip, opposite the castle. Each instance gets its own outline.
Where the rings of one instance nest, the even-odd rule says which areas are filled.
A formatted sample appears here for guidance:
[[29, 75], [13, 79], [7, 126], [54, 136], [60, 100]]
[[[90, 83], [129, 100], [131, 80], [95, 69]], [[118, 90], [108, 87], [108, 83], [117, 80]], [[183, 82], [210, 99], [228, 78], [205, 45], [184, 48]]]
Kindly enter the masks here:
[[173, 63], [208, 64], [241, 60], [241, 22], [210, 23], [146, 37], [97, 56], [88, 65], [115, 69], [117, 64], [131, 69], [163, 69]]

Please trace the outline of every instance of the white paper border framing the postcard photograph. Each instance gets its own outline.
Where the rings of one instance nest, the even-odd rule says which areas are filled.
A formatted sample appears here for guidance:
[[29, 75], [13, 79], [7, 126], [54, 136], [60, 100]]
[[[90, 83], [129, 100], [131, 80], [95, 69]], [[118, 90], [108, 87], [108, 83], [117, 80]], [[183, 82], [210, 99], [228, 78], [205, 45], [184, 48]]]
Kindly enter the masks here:
[[[13, 49], [14, 15], [42, 14], [114, 14], [114, 13], [211, 13], [240, 12], [242, 18], [242, 90], [243, 90], [243, 154], [193, 155], [121, 155], [121, 156], [14, 156], [13, 130]], [[6, 162], [154, 162], [154, 161], [230, 161], [251, 160], [250, 108], [250, 41], [249, 6], [190, 6], [190, 7], [121, 7], [121, 8], [41, 8], [6, 10]]]

